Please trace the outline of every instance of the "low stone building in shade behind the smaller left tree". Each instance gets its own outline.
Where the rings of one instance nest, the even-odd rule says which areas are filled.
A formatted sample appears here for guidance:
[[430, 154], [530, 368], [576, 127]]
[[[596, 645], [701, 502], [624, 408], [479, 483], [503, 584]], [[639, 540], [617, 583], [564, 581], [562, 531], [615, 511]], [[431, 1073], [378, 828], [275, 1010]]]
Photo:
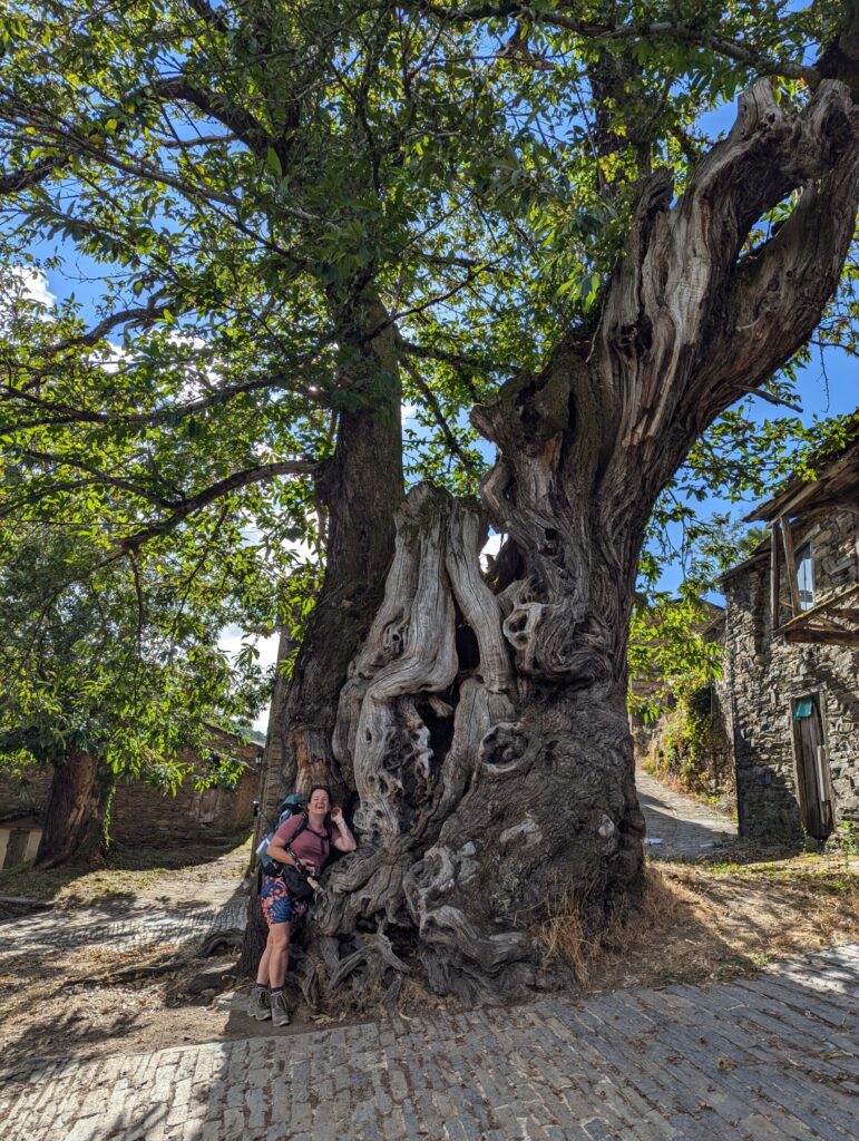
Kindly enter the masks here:
[[[183, 837], [205, 840], [232, 836], [253, 827], [253, 803], [260, 794], [262, 746], [211, 728], [212, 753], [240, 760], [243, 774], [232, 788], [197, 790], [186, 778], [176, 795], [141, 780], [120, 784], [111, 806], [111, 836], [117, 843], [152, 844]], [[202, 772], [205, 758], [192, 753], [183, 760]], [[48, 800], [51, 770], [33, 766], [26, 785], [0, 774], [0, 868], [34, 859], [42, 832], [41, 814]]]

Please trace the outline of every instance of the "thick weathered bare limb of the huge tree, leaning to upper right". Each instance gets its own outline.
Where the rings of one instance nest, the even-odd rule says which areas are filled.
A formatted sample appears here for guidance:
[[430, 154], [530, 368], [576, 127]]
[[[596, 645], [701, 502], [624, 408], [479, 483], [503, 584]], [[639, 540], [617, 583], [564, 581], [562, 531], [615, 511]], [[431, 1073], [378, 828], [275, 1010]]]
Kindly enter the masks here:
[[[825, 80], [797, 112], [761, 80], [673, 209], [667, 175], [648, 180], [593, 358], [610, 408], [602, 524], [623, 520], [635, 549], [694, 439], [765, 382], [819, 322], [853, 233], [856, 116], [837, 81]], [[761, 216], [794, 191], [801, 199], [788, 221], [740, 257]]]

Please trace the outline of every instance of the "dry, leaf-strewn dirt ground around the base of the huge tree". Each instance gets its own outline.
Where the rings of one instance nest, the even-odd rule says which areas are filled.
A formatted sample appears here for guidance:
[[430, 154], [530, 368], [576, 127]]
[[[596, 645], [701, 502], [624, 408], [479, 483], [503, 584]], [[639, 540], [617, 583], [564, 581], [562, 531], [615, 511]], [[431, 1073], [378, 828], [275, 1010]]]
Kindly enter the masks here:
[[[229, 899], [246, 874], [249, 843], [212, 849], [200, 860], [186, 850], [127, 852], [91, 872], [0, 873], [0, 895], [52, 898], [51, 922], [80, 907], [106, 921], [129, 906], [181, 909], [205, 898]], [[2, 904], [0, 904], [0, 907]], [[582, 938], [576, 915], [546, 926], [546, 954], [576, 964], [575, 993], [707, 980], [753, 973], [777, 958], [859, 939], [859, 872], [844, 856], [773, 858], [728, 843], [695, 865], [653, 860], [642, 909], [618, 923], [605, 945]], [[34, 1055], [86, 1058], [272, 1034], [270, 1022], [244, 1014], [245, 981], [228, 972], [235, 954], [202, 960], [176, 947], [111, 949], [98, 945], [17, 957], [2, 947], [0, 929], [0, 1058], [3, 1070]], [[205, 972], [205, 977], [201, 977]], [[310, 1026], [358, 1021], [347, 1005], [314, 1015], [289, 989], [295, 1033]], [[404, 1018], [445, 1003], [406, 982], [398, 1000]], [[375, 1017], [381, 1010], [371, 1012]], [[363, 1017], [367, 1017], [364, 1014]]]

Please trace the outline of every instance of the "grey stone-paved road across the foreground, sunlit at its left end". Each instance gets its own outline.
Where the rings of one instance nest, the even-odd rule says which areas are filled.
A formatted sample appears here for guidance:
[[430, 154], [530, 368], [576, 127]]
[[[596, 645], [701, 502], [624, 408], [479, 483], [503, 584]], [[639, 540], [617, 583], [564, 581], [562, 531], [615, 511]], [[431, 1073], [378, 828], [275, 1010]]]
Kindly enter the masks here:
[[859, 946], [759, 978], [545, 998], [7, 1074], [7, 1141], [856, 1138]]

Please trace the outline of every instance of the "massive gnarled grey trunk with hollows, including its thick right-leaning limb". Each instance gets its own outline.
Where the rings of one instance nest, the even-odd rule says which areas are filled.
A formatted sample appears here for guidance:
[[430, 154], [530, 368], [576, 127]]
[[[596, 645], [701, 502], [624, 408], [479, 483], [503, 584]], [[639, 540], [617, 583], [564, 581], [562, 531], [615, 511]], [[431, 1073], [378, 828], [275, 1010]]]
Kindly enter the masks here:
[[[411, 492], [331, 727], [359, 849], [326, 876], [308, 995], [396, 985], [412, 950], [443, 993], [549, 985], [546, 911], [572, 897], [598, 931], [641, 890], [624, 698], [645, 526], [704, 428], [819, 321], [853, 229], [853, 115], [840, 83], [802, 114], [757, 83], [675, 204], [664, 173], [641, 188], [595, 331], [473, 413], [499, 450], [483, 504]], [[492, 585], [487, 521], [507, 536]]]

